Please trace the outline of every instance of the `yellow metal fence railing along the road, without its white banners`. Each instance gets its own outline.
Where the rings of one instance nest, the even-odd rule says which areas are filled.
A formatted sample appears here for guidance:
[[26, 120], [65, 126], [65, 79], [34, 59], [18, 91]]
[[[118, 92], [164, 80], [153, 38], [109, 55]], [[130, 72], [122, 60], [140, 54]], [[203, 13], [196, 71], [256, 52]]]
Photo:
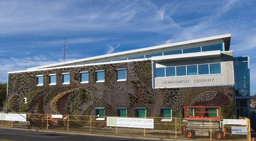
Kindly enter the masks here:
[[[148, 129], [107, 126], [107, 117], [100, 119], [97, 116], [86, 115], [61, 115], [61, 117], [53, 118], [50, 114], [26, 113], [26, 121], [6, 121], [0, 119], [0, 126], [175, 139], [251, 141], [250, 119], [246, 119], [246, 125], [223, 125], [216, 121], [216, 119], [200, 122], [201, 124], [198, 121], [192, 121], [195, 125], [190, 127], [189, 121], [183, 118], [163, 120], [163, 118], [159, 117], [147, 117], [147, 119], [154, 119], [154, 128]], [[222, 120], [220, 119], [220, 121]], [[241, 134], [234, 134], [234, 130], [243, 130], [244, 128], [247, 130], [246, 133], [241, 131]]]

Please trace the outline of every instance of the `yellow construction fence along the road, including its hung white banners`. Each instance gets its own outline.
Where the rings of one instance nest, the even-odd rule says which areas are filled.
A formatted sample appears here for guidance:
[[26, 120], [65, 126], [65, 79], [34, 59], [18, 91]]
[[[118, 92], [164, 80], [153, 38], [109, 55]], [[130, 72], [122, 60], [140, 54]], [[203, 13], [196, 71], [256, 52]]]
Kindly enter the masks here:
[[193, 120], [183, 118], [135, 118], [85, 115], [0, 113], [0, 126], [30, 129], [165, 137], [175, 139], [251, 141], [250, 119]]

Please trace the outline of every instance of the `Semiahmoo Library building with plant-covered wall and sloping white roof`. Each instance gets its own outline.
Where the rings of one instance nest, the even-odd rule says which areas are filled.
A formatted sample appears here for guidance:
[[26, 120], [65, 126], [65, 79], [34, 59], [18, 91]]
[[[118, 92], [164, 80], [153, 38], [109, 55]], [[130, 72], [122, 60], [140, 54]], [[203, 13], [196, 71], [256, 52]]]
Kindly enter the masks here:
[[[182, 118], [220, 106], [236, 118], [231, 34], [8, 72], [7, 109], [40, 114]], [[238, 90], [239, 91], [239, 90]]]

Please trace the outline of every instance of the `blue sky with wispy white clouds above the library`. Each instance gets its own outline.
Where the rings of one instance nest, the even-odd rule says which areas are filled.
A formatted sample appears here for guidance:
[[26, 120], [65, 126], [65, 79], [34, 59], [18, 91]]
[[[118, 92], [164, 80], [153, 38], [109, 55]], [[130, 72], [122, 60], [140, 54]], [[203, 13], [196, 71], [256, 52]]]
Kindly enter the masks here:
[[1, 0], [0, 81], [7, 72], [231, 33], [234, 56], [250, 55], [256, 92], [255, 0]]

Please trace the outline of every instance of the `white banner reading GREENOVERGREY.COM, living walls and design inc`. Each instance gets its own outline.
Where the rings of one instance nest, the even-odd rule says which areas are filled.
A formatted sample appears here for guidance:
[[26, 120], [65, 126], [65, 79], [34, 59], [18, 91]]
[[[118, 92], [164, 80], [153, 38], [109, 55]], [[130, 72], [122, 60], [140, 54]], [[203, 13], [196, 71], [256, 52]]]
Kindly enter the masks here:
[[107, 117], [107, 126], [154, 129], [154, 119]]

